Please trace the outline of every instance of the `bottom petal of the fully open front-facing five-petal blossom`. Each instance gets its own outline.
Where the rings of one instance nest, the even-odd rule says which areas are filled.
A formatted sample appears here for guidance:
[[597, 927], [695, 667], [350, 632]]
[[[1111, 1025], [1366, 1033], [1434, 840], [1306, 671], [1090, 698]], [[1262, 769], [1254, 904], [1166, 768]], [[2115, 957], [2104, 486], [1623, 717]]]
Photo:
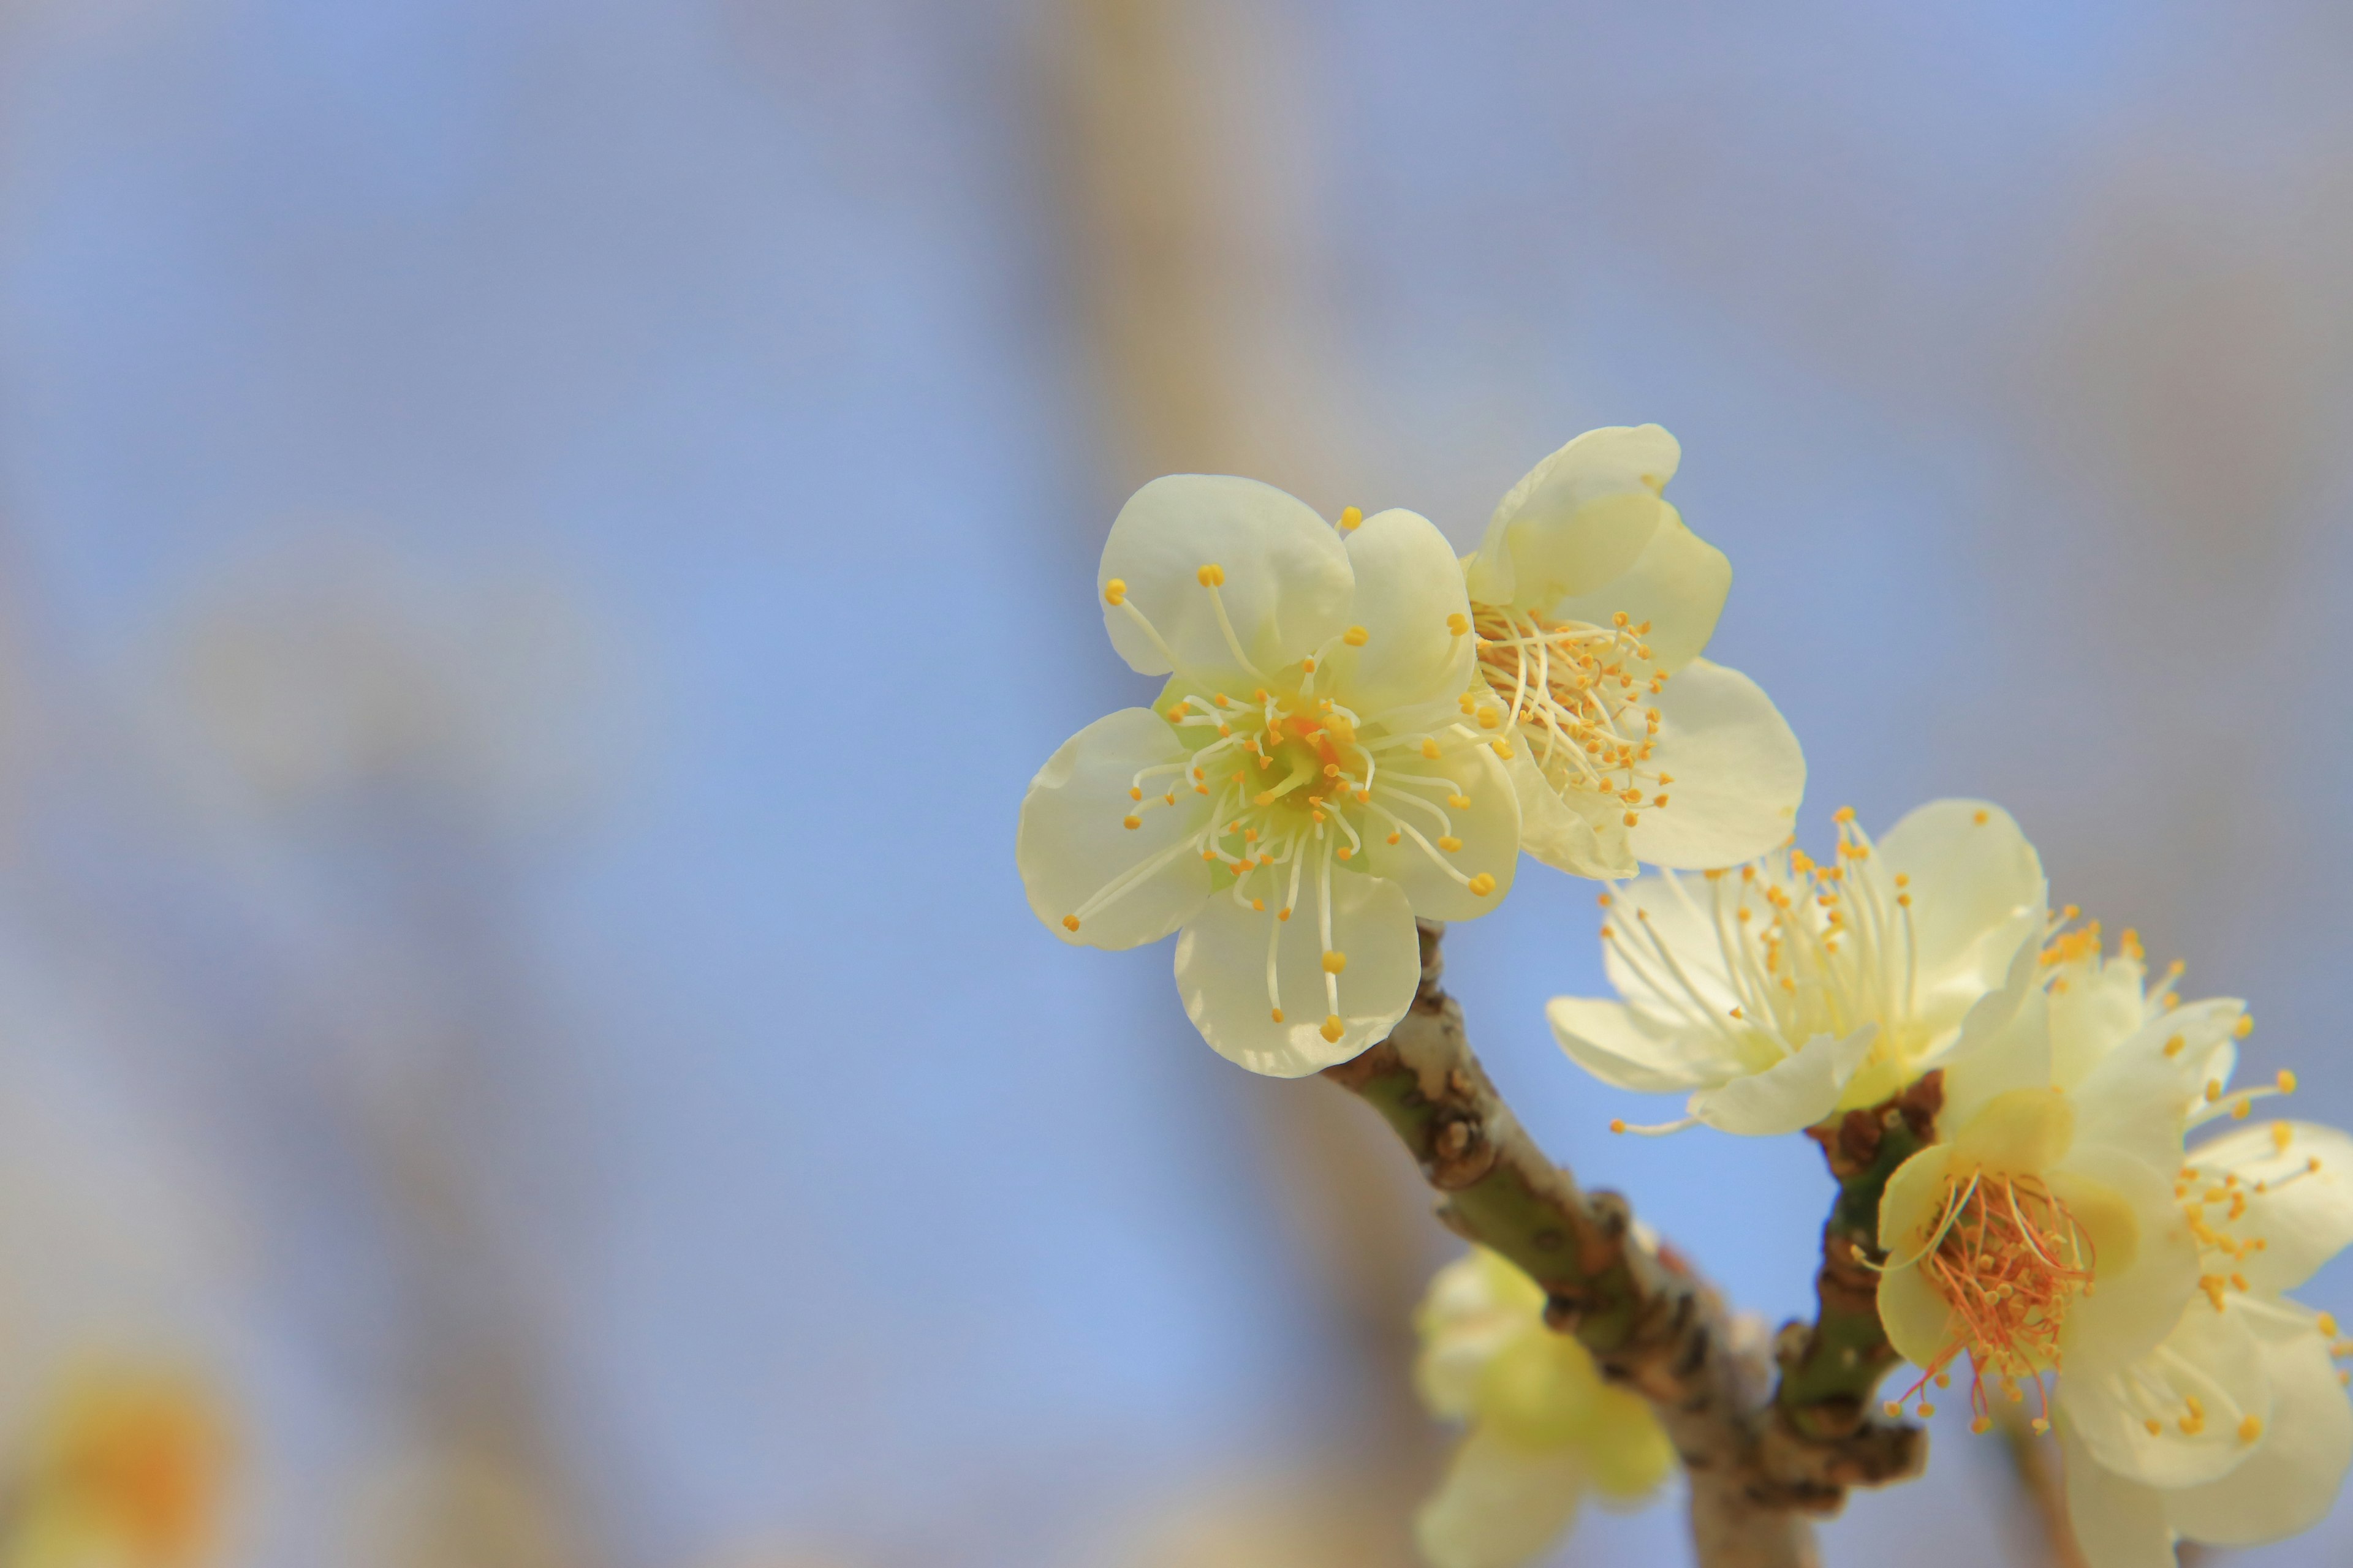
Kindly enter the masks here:
[[[1365, 872], [1332, 875], [1332, 952], [1348, 959], [1339, 976], [1339, 1039], [1325, 1039], [1329, 1013], [1313, 872], [1299, 907], [1278, 922], [1231, 893], [1209, 898], [1176, 938], [1176, 992], [1202, 1039], [1226, 1060], [1278, 1079], [1299, 1079], [1377, 1044], [1414, 1004], [1421, 985], [1421, 938], [1405, 889]], [[1266, 945], [1275, 938], [1282, 1023], [1266, 992]]]

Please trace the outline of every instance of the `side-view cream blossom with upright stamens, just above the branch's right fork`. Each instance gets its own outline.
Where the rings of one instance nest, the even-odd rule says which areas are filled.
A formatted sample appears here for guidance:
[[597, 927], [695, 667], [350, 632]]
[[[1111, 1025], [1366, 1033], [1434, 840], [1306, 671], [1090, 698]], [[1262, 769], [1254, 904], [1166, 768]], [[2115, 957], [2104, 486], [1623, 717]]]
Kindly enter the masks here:
[[1654, 872], [1602, 896], [1619, 1001], [1555, 997], [1553, 1037], [1687, 1119], [1774, 1135], [1878, 1105], [1960, 1039], [2045, 929], [2042, 860], [2000, 806], [1941, 799], [1873, 842], [1838, 811], [1826, 863], [1784, 849], [1699, 879]]

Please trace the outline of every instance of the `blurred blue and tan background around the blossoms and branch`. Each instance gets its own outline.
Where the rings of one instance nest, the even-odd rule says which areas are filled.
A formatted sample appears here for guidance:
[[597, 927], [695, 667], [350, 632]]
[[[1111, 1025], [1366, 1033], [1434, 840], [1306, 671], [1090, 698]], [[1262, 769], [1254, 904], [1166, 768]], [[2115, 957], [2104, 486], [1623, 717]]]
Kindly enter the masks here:
[[[1167, 470], [1468, 545], [1666, 423], [1807, 837], [2005, 802], [2353, 1119], [2348, 71], [2334, 0], [0, 0], [0, 1561], [1409, 1561], [1412, 1173], [1012, 867]], [[1558, 1058], [1591, 893], [1452, 933], [1473, 1039], [1805, 1312], [1814, 1150]], [[2038, 1563], [1937, 1448], [1831, 1559]]]

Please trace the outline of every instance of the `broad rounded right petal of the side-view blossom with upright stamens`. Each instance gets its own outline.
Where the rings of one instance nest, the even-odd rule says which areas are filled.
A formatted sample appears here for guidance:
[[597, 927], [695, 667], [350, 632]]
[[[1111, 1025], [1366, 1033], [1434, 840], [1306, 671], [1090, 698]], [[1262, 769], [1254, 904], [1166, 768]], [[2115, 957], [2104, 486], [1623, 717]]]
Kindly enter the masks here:
[[1998, 987], [2019, 940], [2042, 931], [2042, 858], [1995, 804], [1929, 802], [1887, 830], [1880, 856], [1911, 877], [1922, 994]]

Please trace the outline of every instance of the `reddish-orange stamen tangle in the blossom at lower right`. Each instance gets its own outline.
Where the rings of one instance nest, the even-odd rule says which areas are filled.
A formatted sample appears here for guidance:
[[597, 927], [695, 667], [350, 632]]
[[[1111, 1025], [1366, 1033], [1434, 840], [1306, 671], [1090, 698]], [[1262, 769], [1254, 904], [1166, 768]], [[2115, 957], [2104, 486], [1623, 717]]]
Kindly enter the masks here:
[[[2042, 1387], [2059, 1368], [2059, 1331], [2068, 1305], [2092, 1288], [2092, 1237], [2038, 1175], [1974, 1171], [1946, 1182], [1944, 1206], [1920, 1255], [1920, 1274], [1946, 1300], [1960, 1333], [1920, 1375], [1911, 1394], [1969, 1356], [1969, 1408], [1988, 1415], [1986, 1378], [2012, 1401], [2024, 1382]], [[1906, 1399], [1911, 1396], [1906, 1394]], [[2045, 1429], [2045, 1413], [2035, 1429]]]

